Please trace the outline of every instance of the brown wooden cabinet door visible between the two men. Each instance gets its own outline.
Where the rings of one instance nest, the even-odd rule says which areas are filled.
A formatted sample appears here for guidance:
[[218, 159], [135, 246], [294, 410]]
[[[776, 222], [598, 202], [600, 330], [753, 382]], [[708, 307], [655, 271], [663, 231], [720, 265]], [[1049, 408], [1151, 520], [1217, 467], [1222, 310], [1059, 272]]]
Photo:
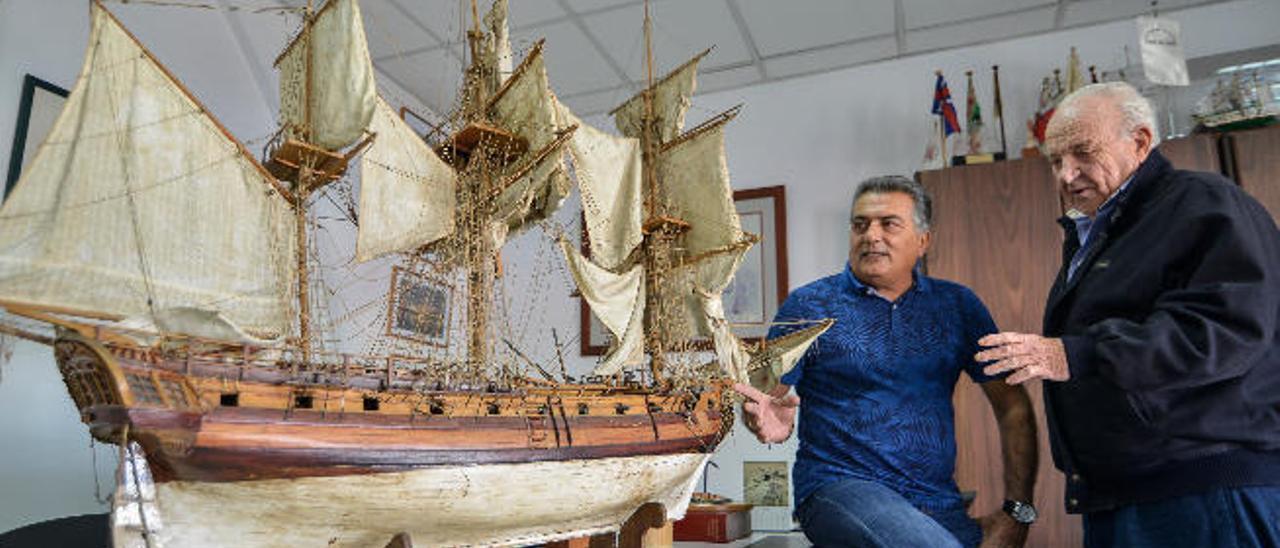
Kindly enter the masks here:
[[[1061, 261], [1061, 215], [1048, 164], [1041, 157], [924, 172], [933, 196], [931, 277], [968, 286], [991, 310], [1001, 330], [1039, 333], [1044, 298]], [[1064, 478], [1053, 467], [1038, 383], [1028, 384], [1039, 430], [1036, 507], [1029, 547], [1076, 547], [1080, 519], [1062, 504]], [[955, 393], [956, 483], [977, 490], [970, 515], [1004, 502], [1000, 430], [982, 388], [961, 375]]]

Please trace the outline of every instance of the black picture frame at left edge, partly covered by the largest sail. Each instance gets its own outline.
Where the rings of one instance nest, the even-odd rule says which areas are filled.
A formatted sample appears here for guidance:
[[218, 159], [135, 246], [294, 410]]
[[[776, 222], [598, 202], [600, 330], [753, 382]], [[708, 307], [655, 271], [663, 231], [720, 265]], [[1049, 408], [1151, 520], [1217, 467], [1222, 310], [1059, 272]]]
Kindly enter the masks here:
[[40, 143], [49, 136], [54, 122], [67, 104], [68, 91], [63, 87], [27, 74], [22, 78], [22, 95], [18, 99], [18, 123], [13, 129], [13, 145], [9, 149], [9, 172], [4, 183], [4, 197], [18, 184], [22, 169], [31, 163]]

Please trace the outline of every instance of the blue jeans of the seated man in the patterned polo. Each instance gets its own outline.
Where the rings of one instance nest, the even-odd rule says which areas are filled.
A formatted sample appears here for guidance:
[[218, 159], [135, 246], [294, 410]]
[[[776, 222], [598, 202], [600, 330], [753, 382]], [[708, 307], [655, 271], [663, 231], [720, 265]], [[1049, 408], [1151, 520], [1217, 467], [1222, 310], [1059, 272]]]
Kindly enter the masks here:
[[956, 534], [965, 545], [977, 545], [982, 540], [978, 524], [963, 508], [951, 513], [931, 517], [892, 489], [858, 479], [824, 485], [796, 508], [805, 536], [822, 548], [960, 547]]

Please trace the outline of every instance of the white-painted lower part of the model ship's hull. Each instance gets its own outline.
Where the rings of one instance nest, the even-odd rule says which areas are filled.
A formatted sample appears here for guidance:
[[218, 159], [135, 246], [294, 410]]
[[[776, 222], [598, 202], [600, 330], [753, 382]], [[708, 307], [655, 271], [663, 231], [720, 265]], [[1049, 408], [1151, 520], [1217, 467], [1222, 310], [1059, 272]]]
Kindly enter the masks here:
[[156, 484], [160, 524], [151, 545], [381, 548], [402, 531], [419, 547], [547, 543], [617, 531], [646, 502], [663, 504], [668, 519], [682, 517], [708, 458], [681, 453], [169, 481]]

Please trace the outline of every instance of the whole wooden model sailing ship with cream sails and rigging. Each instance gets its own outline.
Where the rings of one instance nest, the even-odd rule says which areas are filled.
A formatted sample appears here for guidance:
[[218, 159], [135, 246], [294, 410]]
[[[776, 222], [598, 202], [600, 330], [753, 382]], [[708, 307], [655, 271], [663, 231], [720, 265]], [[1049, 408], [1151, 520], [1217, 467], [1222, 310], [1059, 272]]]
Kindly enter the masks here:
[[[358, 3], [330, 0], [276, 60], [260, 164], [91, 13], [79, 79], [0, 210], [3, 330], [54, 347], [95, 438], [141, 447], [147, 545], [531, 544], [616, 531], [646, 503], [678, 517], [731, 426], [727, 384], [774, 382], [829, 325], [749, 348], [724, 320], [756, 238], [723, 155], [736, 110], [682, 132], [701, 55], [658, 81], [649, 59], [617, 137], [556, 100], [541, 42], [506, 69], [504, 0], [483, 28], [472, 6], [458, 109], [428, 143], [378, 96]], [[357, 193], [357, 157], [344, 220], [389, 282], [378, 335], [337, 352], [320, 332], [351, 329], [317, 320], [312, 209]], [[590, 259], [544, 220], [575, 182]], [[616, 338], [586, 379], [503, 337], [499, 278], [518, 266], [500, 250], [530, 228]]]

